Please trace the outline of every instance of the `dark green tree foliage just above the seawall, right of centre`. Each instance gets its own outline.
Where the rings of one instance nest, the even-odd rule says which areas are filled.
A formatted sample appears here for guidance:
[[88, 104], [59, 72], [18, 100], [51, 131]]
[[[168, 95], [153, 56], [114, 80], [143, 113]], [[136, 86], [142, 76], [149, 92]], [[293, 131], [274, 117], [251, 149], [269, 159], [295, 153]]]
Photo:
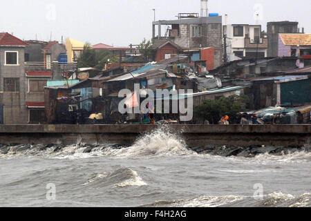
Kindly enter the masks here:
[[221, 117], [228, 115], [230, 124], [236, 123], [236, 114], [246, 111], [248, 97], [232, 95], [216, 100], [206, 100], [203, 104], [194, 106], [194, 116], [207, 119], [211, 124], [217, 124]]

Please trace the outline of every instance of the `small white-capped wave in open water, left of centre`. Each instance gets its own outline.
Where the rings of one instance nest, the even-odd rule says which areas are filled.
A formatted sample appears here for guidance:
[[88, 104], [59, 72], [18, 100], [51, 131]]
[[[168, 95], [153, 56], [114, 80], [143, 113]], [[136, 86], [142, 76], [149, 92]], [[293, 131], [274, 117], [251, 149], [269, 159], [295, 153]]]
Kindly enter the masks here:
[[142, 180], [136, 171], [129, 168], [120, 168], [107, 174], [93, 175], [83, 186], [103, 187], [112, 186], [146, 186], [147, 183]]

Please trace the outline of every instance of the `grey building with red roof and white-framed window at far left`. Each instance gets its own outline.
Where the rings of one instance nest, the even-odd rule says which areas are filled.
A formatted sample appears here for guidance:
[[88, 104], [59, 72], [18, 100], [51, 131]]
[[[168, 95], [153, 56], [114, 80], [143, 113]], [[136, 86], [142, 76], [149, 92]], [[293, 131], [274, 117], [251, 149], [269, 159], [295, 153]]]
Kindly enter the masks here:
[[0, 33], [0, 124], [27, 124], [24, 53], [26, 42]]

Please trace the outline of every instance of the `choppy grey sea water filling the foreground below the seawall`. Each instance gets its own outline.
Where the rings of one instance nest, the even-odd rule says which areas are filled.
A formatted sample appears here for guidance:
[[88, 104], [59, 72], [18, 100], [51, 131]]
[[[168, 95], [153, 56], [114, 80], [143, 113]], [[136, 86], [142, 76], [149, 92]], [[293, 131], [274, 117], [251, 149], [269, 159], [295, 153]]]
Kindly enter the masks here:
[[[310, 207], [310, 172], [308, 151], [252, 158], [198, 154], [160, 128], [127, 148], [1, 148], [0, 206]], [[55, 200], [47, 198], [50, 184]]]

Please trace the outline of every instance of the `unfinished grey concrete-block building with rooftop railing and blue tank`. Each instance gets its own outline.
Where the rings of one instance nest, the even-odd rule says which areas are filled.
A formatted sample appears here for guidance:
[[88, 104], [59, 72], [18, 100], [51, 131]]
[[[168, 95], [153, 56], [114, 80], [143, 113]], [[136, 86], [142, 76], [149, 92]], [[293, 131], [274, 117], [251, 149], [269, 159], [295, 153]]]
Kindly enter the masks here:
[[[197, 13], [180, 13], [177, 20], [153, 21], [152, 27], [153, 41], [168, 39], [184, 51], [213, 47], [214, 66], [223, 63], [221, 16], [205, 14], [205, 17], [199, 17]], [[166, 28], [165, 33], [162, 28]]]

